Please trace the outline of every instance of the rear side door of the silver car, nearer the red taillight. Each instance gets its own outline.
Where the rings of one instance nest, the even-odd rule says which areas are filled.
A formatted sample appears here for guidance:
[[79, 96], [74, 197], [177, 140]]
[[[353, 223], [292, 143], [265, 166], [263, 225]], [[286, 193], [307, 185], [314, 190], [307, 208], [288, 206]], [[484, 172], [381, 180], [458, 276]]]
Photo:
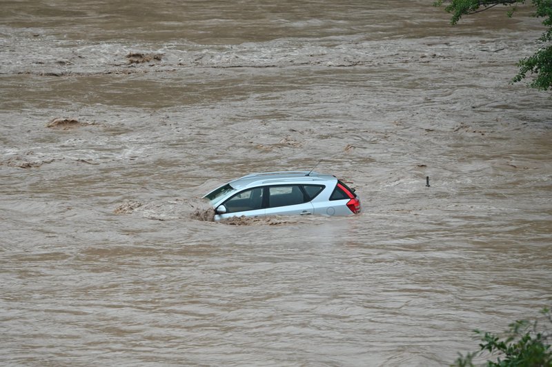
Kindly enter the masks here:
[[313, 204], [299, 185], [266, 188], [266, 215], [311, 215]]

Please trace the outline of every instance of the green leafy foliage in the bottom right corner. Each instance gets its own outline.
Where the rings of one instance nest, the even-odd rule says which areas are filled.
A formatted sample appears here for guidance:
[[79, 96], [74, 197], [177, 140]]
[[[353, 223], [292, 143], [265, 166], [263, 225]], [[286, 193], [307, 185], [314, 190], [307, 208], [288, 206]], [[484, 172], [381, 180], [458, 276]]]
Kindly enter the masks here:
[[[542, 313], [546, 316], [547, 323], [552, 325], [551, 311], [545, 308]], [[481, 349], [475, 353], [468, 353], [465, 357], [460, 355], [455, 361], [455, 366], [473, 366], [473, 358], [486, 353], [496, 358], [495, 361], [486, 361], [486, 366], [489, 367], [552, 367], [551, 330], [540, 330], [538, 321], [515, 321], [510, 324], [509, 331], [502, 338], [492, 333], [482, 333], [480, 330], [474, 330], [474, 333], [482, 341], [479, 345]]]

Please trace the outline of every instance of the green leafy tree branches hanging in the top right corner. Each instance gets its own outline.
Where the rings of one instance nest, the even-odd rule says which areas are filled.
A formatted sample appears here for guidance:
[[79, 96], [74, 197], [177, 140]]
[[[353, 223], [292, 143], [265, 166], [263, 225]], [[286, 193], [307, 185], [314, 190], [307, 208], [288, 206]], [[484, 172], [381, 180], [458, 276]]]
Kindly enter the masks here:
[[[445, 0], [435, 1], [435, 6], [442, 6]], [[525, 3], [526, 0], [450, 0], [447, 1], [448, 5], [444, 8], [446, 12], [452, 14], [451, 23], [454, 25], [462, 15], [475, 14], [484, 10], [493, 8], [497, 5], [515, 6], [517, 3]], [[552, 90], [552, 0], [531, 0], [533, 7], [535, 8], [534, 17], [542, 17], [544, 21], [542, 24], [546, 26], [546, 30], [542, 36], [538, 39], [538, 42], [542, 43], [535, 54], [531, 57], [521, 59], [517, 66], [520, 71], [511, 80], [511, 83], [522, 81], [528, 75], [533, 75], [533, 80], [529, 83], [529, 86], [540, 90]], [[515, 7], [508, 12], [508, 16], [511, 17]]]

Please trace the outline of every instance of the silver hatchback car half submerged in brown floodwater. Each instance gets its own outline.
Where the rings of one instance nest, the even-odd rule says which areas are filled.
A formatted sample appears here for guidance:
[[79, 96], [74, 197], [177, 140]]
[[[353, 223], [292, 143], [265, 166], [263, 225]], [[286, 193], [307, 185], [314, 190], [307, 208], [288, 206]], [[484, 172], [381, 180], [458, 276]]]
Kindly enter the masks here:
[[353, 215], [360, 212], [355, 190], [332, 175], [308, 171], [254, 173], [204, 196], [215, 220], [265, 215]]

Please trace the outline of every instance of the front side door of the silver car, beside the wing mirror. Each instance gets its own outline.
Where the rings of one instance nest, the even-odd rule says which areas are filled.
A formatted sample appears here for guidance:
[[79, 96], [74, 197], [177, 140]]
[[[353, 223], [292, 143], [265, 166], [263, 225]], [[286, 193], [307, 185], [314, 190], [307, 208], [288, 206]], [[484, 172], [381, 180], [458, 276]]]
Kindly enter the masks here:
[[249, 188], [237, 192], [235, 195], [224, 201], [222, 205], [226, 213], [215, 215], [215, 220], [231, 217], [262, 217], [265, 210], [263, 204], [264, 188]]

